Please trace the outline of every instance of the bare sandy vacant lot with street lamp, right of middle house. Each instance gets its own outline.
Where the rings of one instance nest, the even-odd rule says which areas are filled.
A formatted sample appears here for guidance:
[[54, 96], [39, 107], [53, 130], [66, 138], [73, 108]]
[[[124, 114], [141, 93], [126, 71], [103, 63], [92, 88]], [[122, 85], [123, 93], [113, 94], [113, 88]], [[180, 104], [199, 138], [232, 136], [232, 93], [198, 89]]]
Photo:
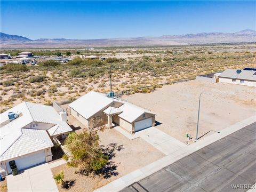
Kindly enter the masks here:
[[[210, 130], [219, 131], [256, 114], [255, 87], [189, 81], [163, 86], [154, 92], [124, 95], [122, 99], [150, 109], [157, 114], [157, 128], [187, 143], [185, 133], [195, 139], [199, 94], [201, 112], [198, 137]], [[206, 134], [210, 135], [213, 133]], [[203, 137], [203, 138], [204, 138]]]

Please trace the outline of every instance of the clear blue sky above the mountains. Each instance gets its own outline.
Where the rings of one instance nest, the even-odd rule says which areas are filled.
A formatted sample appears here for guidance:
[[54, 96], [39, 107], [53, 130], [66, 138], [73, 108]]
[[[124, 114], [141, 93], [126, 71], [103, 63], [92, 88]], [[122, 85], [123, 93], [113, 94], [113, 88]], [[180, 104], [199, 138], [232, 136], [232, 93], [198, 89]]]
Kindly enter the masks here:
[[255, 30], [255, 1], [1, 1], [1, 32], [117, 38]]

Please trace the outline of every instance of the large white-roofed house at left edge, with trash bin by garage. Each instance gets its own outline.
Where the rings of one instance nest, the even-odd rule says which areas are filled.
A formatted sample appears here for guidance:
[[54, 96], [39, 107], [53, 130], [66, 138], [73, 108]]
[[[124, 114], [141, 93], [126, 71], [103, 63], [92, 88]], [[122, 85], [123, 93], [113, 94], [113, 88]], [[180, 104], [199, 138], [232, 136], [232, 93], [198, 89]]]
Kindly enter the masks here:
[[[9, 112], [19, 117], [10, 121]], [[59, 113], [51, 106], [30, 102], [5, 111], [0, 115], [1, 174], [11, 173], [9, 162], [14, 160], [18, 171], [52, 161], [53, 142], [66, 137], [72, 129], [67, 124], [66, 112]]]

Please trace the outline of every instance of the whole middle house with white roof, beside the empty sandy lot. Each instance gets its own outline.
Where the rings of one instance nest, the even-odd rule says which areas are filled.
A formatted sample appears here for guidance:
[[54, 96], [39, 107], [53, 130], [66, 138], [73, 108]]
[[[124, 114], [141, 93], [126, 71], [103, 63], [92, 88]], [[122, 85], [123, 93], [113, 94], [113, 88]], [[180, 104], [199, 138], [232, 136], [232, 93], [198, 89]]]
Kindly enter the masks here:
[[94, 91], [70, 103], [69, 107], [71, 115], [87, 127], [95, 118], [100, 118], [102, 125], [113, 127], [114, 123], [132, 133], [155, 126], [155, 114], [151, 111]]

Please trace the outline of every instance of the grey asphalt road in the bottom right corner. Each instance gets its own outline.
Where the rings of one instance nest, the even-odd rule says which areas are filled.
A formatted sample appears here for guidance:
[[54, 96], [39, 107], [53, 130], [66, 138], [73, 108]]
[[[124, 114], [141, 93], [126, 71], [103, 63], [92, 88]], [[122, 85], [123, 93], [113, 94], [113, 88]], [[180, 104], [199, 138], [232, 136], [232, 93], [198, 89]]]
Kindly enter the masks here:
[[123, 192], [247, 191], [256, 182], [256, 122], [170, 164]]

